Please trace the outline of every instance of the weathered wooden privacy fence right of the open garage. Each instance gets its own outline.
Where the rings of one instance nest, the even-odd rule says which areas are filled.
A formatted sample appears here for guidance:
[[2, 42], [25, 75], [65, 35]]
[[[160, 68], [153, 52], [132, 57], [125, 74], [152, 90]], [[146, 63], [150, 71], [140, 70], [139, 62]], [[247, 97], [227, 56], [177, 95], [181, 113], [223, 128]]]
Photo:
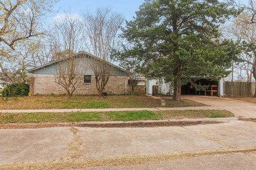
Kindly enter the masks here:
[[255, 82], [226, 81], [223, 91], [227, 97], [252, 97], [255, 92]]

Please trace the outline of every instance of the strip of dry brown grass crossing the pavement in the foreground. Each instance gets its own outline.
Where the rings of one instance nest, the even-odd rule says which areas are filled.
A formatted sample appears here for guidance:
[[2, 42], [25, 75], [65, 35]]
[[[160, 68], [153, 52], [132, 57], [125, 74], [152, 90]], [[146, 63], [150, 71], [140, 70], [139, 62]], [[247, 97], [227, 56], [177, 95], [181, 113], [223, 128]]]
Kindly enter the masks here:
[[217, 150], [200, 150], [190, 152], [173, 152], [161, 154], [129, 154], [121, 156], [108, 156], [89, 159], [71, 159], [71, 160], [49, 160], [45, 162], [30, 162], [30, 163], [10, 163], [0, 166], [0, 169], [23, 169], [23, 170], [50, 170], [50, 169], [71, 169], [71, 168], [86, 168], [99, 166], [131, 166], [143, 165], [151, 162], [163, 162], [173, 159], [189, 158], [194, 156], [209, 156], [219, 154], [233, 154], [237, 152], [254, 152], [256, 148], [242, 149], [217, 149]]

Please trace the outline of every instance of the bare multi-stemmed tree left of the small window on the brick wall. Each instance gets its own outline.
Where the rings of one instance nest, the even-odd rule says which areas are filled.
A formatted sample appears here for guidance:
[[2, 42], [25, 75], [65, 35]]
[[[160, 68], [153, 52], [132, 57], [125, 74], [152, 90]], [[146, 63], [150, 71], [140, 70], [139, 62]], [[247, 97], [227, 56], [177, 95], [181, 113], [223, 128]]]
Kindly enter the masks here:
[[[65, 14], [63, 18], [53, 24], [50, 32], [51, 54], [57, 60], [55, 82], [60, 84], [70, 98], [80, 83], [87, 64], [75, 55], [82, 49], [81, 22]], [[81, 56], [80, 56], [81, 57]]]

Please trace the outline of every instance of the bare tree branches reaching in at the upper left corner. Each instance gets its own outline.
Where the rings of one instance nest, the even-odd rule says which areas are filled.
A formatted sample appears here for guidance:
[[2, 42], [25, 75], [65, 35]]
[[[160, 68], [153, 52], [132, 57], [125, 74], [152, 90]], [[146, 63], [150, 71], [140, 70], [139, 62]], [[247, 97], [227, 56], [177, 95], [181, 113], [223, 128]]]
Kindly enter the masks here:
[[52, 1], [16, 0], [0, 1], [0, 50], [5, 56], [15, 45], [43, 33], [39, 24], [50, 11]]

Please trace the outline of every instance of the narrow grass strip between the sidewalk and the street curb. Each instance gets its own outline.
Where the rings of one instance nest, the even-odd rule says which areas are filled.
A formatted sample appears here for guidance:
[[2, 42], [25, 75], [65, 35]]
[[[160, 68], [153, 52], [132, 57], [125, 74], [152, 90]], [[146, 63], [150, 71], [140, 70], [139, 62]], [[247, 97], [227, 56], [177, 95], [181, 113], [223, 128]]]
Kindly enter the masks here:
[[0, 113], [0, 124], [58, 123], [87, 121], [141, 121], [180, 118], [233, 117], [223, 110], [188, 111], [124, 111], [124, 112], [70, 112], [70, 113]]

